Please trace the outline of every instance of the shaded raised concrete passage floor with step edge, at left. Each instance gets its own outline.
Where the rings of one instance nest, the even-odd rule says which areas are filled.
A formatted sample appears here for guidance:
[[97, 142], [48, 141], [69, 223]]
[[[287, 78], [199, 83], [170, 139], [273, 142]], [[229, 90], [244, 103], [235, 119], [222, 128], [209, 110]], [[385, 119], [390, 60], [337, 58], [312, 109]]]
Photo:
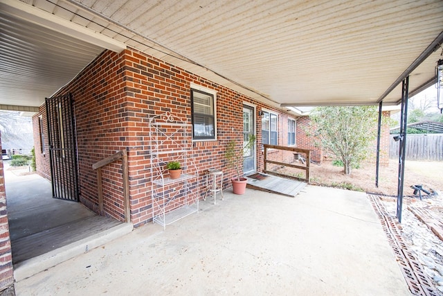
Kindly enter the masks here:
[[6, 165], [6, 201], [16, 281], [132, 232], [79, 202], [52, 198], [51, 182]]

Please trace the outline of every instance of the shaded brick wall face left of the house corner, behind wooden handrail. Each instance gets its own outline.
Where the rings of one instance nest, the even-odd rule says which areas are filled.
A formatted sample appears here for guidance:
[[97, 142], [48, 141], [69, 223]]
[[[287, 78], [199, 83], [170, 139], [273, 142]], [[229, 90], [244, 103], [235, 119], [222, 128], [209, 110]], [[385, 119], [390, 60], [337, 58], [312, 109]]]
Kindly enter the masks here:
[[[71, 92], [74, 98], [78, 142], [78, 172], [80, 202], [98, 212], [97, 174], [92, 164], [113, 155], [117, 150], [126, 149], [127, 144], [127, 103], [125, 94], [124, 53], [105, 51], [91, 62], [70, 83], [55, 94]], [[39, 135], [39, 116], [44, 126], [44, 153]], [[40, 107], [39, 114], [33, 116], [35, 156], [37, 173], [51, 178], [48, 151], [48, 131], [46, 110]], [[123, 182], [121, 161], [103, 170], [103, 194], [107, 216], [124, 219]]]

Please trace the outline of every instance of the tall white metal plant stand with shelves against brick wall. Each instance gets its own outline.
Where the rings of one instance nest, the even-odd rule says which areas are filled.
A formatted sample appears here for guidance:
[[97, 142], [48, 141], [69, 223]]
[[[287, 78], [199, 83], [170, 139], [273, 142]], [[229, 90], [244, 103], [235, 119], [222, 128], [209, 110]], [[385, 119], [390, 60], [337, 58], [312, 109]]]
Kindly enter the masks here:
[[[199, 171], [192, 149], [192, 125], [169, 112], [150, 118], [152, 220], [170, 225], [199, 211]], [[172, 180], [166, 164], [178, 161], [182, 173]]]

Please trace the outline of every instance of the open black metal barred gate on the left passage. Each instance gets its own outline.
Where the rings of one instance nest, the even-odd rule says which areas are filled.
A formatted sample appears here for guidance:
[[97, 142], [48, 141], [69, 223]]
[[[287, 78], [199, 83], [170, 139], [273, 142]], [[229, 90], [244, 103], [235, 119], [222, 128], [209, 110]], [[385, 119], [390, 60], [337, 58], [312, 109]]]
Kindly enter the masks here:
[[46, 98], [53, 198], [78, 202], [77, 141], [71, 94]]

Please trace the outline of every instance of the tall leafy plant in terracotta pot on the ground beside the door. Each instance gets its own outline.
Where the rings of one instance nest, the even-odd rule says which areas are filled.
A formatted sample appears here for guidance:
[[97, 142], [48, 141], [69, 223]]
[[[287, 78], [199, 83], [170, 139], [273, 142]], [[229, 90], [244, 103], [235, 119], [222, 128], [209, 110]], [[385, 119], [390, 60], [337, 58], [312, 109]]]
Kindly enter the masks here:
[[246, 191], [247, 179], [240, 176], [240, 168], [242, 168], [243, 165], [244, 153], [254, 146], [254, 142], [255, 135], [249, 134], [248, 141], [243, 146], [243, 149], [237, 149], [237, 141], [235, 140], [229, 141], [228, 146], [226, 147], [225, 158], [228, 161], [228, 166], [234, 167], [235, 171], [237, 171], [237, 177], [233, 177], [231, 179], [233, 183], [233, 191], [235, 194], [244, 194], [244, 192]]

